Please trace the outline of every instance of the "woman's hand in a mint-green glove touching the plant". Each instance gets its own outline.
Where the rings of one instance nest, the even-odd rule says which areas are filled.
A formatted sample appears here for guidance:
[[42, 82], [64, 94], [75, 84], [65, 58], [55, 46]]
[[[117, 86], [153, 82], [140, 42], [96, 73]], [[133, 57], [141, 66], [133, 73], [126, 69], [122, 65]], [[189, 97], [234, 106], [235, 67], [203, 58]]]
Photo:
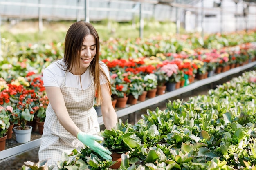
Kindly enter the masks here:
[[97, 142], [103, 141], [103, 137], [87, 134], [80, 131], [77, 133], [77, 139], [83, 142], [83, 144], [85, 144], [86, 146], [89, 146], [92, 150], [97, 152], [104, 159], [112, 160], [112, 157], [110, 156], [112, 153]]

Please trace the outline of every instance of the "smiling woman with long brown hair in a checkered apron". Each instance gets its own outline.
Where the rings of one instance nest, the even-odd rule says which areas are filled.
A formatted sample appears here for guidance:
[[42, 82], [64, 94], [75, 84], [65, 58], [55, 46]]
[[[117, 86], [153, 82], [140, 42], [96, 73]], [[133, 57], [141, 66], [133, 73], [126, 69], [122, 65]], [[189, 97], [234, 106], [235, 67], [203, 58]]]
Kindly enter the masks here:
[[100, 129], [93, 107], [96, 93], [106, 129], [115, 126], [117, 115], [111, 102], [109, 71], [99, 61], [99, 45], [92, 24], [75, 22], [66, 34], [64, 58], [43, 72], [49, 105], [39, 160], [50, 158], [48, 165], [56, 165], [63, 152], [70, 154], [84, 144], [104, 159], [112, 159], [111, 152], [97, 142], [103, 138], [97, 135]]

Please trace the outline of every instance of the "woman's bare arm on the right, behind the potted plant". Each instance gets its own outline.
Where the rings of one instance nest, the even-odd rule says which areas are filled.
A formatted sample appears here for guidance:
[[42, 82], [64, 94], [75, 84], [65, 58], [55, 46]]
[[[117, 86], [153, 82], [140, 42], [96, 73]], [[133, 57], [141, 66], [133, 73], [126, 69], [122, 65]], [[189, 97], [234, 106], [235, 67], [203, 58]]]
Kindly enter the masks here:
[[101, 103], [101, 113], [103, 117], [103, 122], [105, 128], [111, 130], [111, 128], [113, 128], [117, 123], [117, 113], [115, 112], [115, 109], [113, 108], [111, 102], [108, 84], [101, 85], [101, 94], [103, 97], [103, 101]]

